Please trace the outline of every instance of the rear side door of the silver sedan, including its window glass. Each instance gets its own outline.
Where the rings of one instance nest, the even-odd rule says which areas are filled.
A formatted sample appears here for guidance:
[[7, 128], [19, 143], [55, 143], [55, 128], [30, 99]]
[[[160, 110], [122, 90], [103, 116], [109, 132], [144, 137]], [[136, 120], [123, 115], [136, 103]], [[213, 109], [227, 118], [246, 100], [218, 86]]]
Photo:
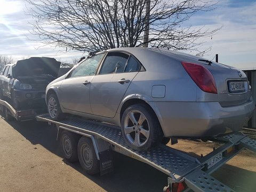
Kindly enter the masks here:
[[99, 74], [91, 84], [91, 108], [94, 115], [114, 117], [126, 90], [140, 70], [140, 63], [131, 55], [108, 53]]

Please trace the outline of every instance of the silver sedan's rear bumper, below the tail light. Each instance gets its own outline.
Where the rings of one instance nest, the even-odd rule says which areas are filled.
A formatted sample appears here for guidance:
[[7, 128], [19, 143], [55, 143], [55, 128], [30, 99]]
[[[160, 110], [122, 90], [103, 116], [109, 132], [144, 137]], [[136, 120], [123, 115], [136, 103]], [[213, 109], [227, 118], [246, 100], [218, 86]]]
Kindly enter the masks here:
[[249, 121], [252, 98], [239, 106], [219, 102], [148, 102], [155, 110], [165, 137], [202, 138], [238, 131]]

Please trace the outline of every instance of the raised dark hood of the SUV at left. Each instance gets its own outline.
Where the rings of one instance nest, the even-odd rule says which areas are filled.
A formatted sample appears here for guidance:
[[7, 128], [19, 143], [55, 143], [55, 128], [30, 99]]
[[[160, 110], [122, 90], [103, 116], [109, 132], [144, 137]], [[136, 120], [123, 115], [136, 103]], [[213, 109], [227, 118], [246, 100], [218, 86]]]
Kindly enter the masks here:
[[56, 78], [60, 62], [54, 58], [32, 57], [19, 60], [15, 66], [15, 77], [52, 76]]

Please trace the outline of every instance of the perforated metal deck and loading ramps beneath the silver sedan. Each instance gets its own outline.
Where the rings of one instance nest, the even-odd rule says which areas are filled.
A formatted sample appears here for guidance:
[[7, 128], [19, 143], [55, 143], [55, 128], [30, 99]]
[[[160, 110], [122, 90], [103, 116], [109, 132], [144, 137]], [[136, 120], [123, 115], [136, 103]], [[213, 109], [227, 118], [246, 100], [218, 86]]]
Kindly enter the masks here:
[[[186, 185], [194, 191], [234, 191], [228, 186], [223, 185], [223, 183], [217, 179], [211, 177], [210, 173], [225, 164], [243, 148], [253, 151], [256, 150], [255, 140], [247, 138], [242, 133], [237, 133], [215, 139], [219, 142], [223, 142], [224, 145], [213, 150], [212, 153], [202, 159], [197, 159], [182, 151], [164, 145], [159, 145], [157, 148], [149, 151], [140, 152], [127, 146], [120, 128], [111, 124], [87, 121], [82, 118], [74, 117], [61, 121], [53, 121], [50, 119], [49, 115], [36, 116], [36, 119], [37, 121], [55, 124], [61, 129], [66, 129], [78, 134], [94, 135], [94, 137], [110, 143], [112, 150], [147, 163], [155, 169], [169, 175], [169, 186], [172, 183], [185, 182]], [[227, 153], [228, 149], [232, 149], [232, 151]], [[223, 159], [208, 168], [207, 161], [211, 161], [217, 154], [222, 154]]]

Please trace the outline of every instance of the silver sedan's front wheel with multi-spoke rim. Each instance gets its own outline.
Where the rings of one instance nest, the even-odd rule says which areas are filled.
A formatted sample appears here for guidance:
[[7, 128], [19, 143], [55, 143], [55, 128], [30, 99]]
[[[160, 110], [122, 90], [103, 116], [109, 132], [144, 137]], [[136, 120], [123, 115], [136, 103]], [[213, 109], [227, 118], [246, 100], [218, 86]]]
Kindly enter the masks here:
[[62, 113], [60, 103], [56, 94], [50, 94], [47, 99], [48, 113], [53, 120], [61, 120], [65, 118], [65, 114]]

